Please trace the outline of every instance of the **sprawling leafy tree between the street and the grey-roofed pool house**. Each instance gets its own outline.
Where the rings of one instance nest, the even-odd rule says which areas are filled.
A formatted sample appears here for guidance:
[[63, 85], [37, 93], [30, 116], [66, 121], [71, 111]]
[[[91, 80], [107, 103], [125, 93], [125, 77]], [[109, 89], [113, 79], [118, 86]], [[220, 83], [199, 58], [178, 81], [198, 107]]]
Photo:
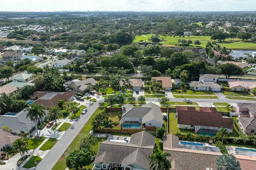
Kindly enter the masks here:
[[113, 120], [110, 120], [108, 118], [108, 116], [106, 115], [106, 113], [101, 112], [98, 115], [96, 115], [93, 119], [92, 119], [92, 126], [94, 128], [100, 128], [100, 129], [104, 129], [104, 128], [112, 128], [113, 125], [117, 126], [118, 122], [113, 122]]

